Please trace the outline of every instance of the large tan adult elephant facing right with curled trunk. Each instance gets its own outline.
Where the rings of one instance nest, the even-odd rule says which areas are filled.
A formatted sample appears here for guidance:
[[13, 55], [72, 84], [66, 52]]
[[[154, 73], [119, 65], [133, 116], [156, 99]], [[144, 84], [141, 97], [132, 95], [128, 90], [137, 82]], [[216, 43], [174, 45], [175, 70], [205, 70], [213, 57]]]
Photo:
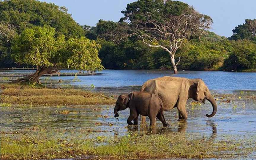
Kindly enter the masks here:
[[[187, 120], [186, 103], [189, 98], [205, 103], [205, 99], [212, 104], [212, 117], [217, 112], [217, 104], [208, 87], [202, 79], [188, 79], [181, 77], [164, 76], [146, 81], [140, 91], [147, 91], [157, 94], [163, 101], [164, 110], [177, 108], [179, 120]], [[142, 122], [145, 116], [141, 116]]]

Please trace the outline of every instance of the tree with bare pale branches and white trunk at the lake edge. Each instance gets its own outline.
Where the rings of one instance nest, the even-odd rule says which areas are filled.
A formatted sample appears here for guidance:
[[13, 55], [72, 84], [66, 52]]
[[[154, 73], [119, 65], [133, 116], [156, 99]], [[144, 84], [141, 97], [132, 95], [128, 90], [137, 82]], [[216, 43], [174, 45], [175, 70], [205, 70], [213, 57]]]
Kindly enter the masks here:
[[[139, 36], [149, 47], [160, 47], [169, 53], [174, 73], [178, 73], [175, 62], [175, 53], [186, 39], [200, 37], [204, 30], [210, 28], [212, 19], [199, 14], [189, 7], [180, 15], [166, 14], [161, 20], [153, 18], [152, 13], [144, 14], [145, 19], [133, 20], [130, 24], [135, 29], [134, 34]], [[154, 43], [153, 43], [154, 42]]]

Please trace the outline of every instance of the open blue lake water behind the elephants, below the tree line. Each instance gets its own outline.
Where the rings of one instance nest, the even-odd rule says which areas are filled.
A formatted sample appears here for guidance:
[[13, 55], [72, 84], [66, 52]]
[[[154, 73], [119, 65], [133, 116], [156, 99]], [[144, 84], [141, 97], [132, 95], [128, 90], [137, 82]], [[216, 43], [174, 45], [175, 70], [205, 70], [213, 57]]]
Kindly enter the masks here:
[[[2, 72], [3, 70], [1, 70]], [[33, 72], [32, 70], [5, 70], [8, 74]], [[76, 70], [61, 70], [61, 73], [78, 72]], [[79, 82], [73, 82], [74, 76], [53, 76], [53, 80], [66, 80], [74, 86], [93, 84], [96, 90], [104, 88], [125, 88], [141, 86], [148, 79], [175, 76], [185, 78], [201, 78], [210, 90], [235, 91], [256, 90], [256, 73], [254, 72], [223, 72], [223, 71], [180, 71], [173, 74], [164, 70], [103, 70], [99, 75], [77, 76]], [[45, 77], [42, 77], [44, 79]], [[64, 81], [65, 82], [65, 81]], [[101, 89], [100, 89], [101, 88]]]

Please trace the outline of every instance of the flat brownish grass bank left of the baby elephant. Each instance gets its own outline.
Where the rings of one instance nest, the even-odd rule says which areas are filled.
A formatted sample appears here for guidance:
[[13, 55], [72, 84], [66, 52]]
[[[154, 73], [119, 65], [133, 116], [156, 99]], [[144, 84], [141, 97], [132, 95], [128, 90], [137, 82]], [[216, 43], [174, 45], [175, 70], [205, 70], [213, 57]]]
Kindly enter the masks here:
[[19, 84], [1, 84], [1, 106], [29, 105], [99, 105], [114, 104], [115, 100], [102, 94], [80, 89], [34, 88]]

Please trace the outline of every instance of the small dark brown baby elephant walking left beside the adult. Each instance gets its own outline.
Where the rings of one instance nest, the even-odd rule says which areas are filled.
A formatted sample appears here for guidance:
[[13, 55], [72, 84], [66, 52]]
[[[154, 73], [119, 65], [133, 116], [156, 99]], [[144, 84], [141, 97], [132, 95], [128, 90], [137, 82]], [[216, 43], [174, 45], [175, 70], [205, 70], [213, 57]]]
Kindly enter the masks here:
[[121, 94], [114, 109], [115, 117], [118, 117], [118, 111], [130, 108], [130, 116], [127, 119], [129, 125], [133, 123], [138, 125], [138, 117], [148, 116], [150, 119], [150, 126], [156, 125], [156, 117], [163, 123], [164, 127], [168, 124], [164, 119], [164, 108], [160, 98], [150, 92], [132, 92], [130, 94]]

